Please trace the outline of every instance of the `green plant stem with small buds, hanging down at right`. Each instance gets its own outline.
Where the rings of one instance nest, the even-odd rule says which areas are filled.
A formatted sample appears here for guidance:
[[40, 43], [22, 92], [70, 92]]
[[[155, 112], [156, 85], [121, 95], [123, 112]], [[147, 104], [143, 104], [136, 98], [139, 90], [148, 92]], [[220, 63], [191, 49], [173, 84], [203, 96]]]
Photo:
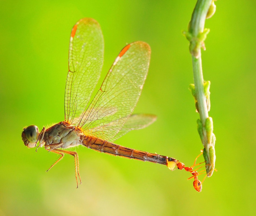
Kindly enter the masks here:
[[[204, 40], [209, 32], [209, 29], [205, 29], [205, 19], [206, 16], [209, 15], [208, 11], [212, 3], [212, 0], [197, 1], [191, 21], [189, 23], [188, 32], [186, 32], [186, 37], [190, 41], [190, 53], [192, 54], [193, 75], [195, 82], [195, 91], [193, 96], [196, 101], [197, 111], [200, 114], [200, 121], [197, 122], [198, 131], [204, 146], [203, 156], [205, 158], [206, 172], [208, 177], [212, 175], [215, 167], [215, 135], [212, 133], [212, 118], [208, 115], [208, 111], [210, 109], [210, 92], [209, 88], [208, 90], [204, 88], [205, 81], [203, 79], [201, 48], [205, 49]], [[210, 82], [208, 81], [208, 84], [209, 83]]]

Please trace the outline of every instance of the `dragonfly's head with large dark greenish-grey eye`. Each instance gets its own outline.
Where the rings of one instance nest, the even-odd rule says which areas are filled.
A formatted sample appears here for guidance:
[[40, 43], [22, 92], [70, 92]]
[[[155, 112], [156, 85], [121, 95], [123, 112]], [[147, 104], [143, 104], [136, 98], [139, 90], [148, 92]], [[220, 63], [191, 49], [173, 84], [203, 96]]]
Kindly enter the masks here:
[[30, 125], [27, 128], [24, 128], [21, 134], [24, 145], [28, 148], [34, 148], [36, 146], [38, 135], [39, 131], [37, 126]]

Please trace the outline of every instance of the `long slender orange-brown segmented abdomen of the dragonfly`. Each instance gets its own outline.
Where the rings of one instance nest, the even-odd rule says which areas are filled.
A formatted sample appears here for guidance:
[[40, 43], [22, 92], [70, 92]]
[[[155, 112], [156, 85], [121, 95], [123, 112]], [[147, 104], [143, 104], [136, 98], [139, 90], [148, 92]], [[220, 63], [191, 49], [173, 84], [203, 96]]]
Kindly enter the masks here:
[[131, 149], [128, 147], [120, 146], [115, 143], [104, 141], [96, 137], [85, 137], [83, 140], [83, 145], [89, 149], [100, 151], [106, 154], [111, 154], [115, 156], [126, 157], [130, 159], [149, 161], [153, 163], [159, 163], [166, 165], [166, 156], [160, 154], [153, 154], [147, 151], [140, 151], [136, 149]]

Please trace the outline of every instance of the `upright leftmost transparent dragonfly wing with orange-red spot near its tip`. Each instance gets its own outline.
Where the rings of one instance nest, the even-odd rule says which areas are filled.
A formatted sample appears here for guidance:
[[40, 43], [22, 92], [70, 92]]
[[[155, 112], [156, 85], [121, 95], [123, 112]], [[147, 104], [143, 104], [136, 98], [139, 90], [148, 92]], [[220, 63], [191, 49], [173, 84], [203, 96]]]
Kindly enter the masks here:
[[65, 121], [76, 125], [88, 106], [103, 65], [103, 36], [99, 23], [91, 18], [73, 27], [69, 44], [69, 72], [65, 89]]

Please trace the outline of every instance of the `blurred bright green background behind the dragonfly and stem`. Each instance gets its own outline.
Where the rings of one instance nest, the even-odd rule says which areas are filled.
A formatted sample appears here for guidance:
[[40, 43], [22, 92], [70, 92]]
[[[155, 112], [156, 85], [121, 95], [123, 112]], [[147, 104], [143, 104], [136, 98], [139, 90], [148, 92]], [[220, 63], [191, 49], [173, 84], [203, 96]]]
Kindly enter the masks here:
[[[143, 40], [150, 70], [135, 113], [153, 113], [150, 127], [115, 143], [174, 157], [188, 166], [203, 148], [187, 30], [196, 1], [1, 1], [0, 215], [254, 215], [255, 1], [217, 1], [206, 21], [202, 54], [211, 81], [216, 168], [198, 193], [185, 171], [77, 147], [83, 184], [76, 189], [73, 157], [48, 173], [57, 155], [27, 149], [24, 126], [64, 120], [64, 87], [72, 26], [96, 19], [105, 40], [102, 77], [119, 51]], [[199, 158], [202, 161], [203, 158]], [[200, 176], [203, 178], [203, 175]]]

